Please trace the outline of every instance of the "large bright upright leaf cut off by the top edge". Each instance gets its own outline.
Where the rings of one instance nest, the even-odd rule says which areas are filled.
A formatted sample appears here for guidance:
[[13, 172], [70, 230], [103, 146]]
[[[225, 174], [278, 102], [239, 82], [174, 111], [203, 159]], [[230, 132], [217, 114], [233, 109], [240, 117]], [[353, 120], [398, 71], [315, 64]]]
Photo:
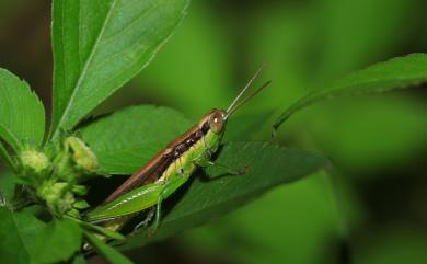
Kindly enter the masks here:
[[185, 14], [188, 0], [66, 1], [53, 7], [53, 136], [146, 67]]

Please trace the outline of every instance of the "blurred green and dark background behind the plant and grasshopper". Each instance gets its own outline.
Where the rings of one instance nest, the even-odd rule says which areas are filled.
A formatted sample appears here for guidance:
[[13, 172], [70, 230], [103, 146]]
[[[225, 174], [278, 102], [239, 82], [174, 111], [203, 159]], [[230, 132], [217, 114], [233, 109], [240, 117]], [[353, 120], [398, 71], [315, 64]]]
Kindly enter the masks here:
[[[253, 136], [266, 140], [275, 115], [308, 91], [427, 51], [426, 10], [425, 0], [194, 0], [152, 64], [95, 113], [149, 103], [197, 119], [227, 106], [266, 61], [262, 79], [273, 84], [239, 113], [270, 116]], [[0, 1], [0, 67], [24, 78], [48, 110], [49, 12], [50, 1]], [[423, 87], [311, 106], [279, 138], [328, 157], [334, 171], [128, 255], [137, 263], [427, 263]]]

